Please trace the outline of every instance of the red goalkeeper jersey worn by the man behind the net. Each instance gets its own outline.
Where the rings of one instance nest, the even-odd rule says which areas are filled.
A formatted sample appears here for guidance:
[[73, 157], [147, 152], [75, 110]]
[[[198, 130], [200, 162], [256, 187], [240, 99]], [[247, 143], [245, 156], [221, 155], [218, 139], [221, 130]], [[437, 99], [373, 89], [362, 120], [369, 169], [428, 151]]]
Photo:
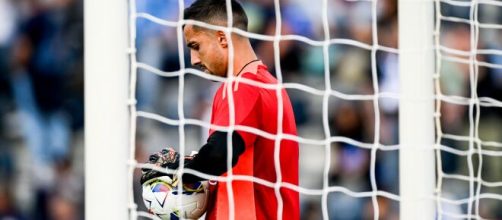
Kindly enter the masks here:
[[[268, 72], [267, 67], [259, 65], [257, 72], [244, 72], [240, 78], [259, 83], [277, 84], [277, 80]], [[229, 125], [229, 101], [223, 83], [215, 94], [211, 123]], [[242, 81], [232, 85], [233, 106], [235, 109], [235, 125], [259, 129], [269, 134], [278, 133], [278, 96], [275, 89], [266, 89]], [[291, 102], [286, 91], [282, 90], [282, 133], [296, 135], [296, 123]], [[210, 131], [210, 134], [214, 130]], [[232, 169], [233, 175], [254, 176], [272, 183], [281, 174], [282, 183], [298, 185], [298, 143], [281, 140], [279, 163], [280, 171], [274, 166], [275, 140], [238, 130], [245, 142], [245, 151]], [[223, 174], [227, 176], [227, 174]], [[218, 182], [210, 186], [210, 201], [206, 214], [207, 219], [229, 219], [230, 202], [228, 184]], [[235, 219], [277, 219], [279, 211], [278, 198], [274, 188], [246, 180], [234, 180], [232, 183]], [[299, 194], [294, 190], [281, 187], [283, 219], [299, 219]]]

